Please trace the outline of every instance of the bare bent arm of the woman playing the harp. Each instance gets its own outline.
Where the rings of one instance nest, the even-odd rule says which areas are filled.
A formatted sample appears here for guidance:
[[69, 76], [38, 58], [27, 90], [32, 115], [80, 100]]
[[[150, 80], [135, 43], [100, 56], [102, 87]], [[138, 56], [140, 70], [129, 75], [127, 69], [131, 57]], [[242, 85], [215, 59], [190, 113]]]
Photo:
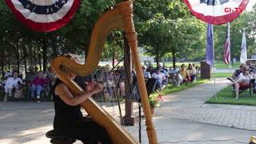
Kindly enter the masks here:
[[94, 87], [93, 90], [90, 90], [85, 94], [74, 96], [73, 94], [71, 94], [70, 90], [66, 87], [64, 83], [58, 84], [58, 86], [56, 86], [54, 90], [55, 94], [57, 94], [63, 102], [70, 106], [77, 106], [82, 102], [85, 102], [86, 99], [92, 96], [93, 94], [97, 94], [100, 91], [102, 91], [102, 87], [97, 85]]

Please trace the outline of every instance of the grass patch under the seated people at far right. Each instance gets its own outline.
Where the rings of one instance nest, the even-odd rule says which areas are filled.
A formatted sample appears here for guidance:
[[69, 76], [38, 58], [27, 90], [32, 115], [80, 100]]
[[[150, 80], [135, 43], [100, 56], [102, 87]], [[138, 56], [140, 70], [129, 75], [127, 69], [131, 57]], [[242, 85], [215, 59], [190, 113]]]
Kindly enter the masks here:
[[250, 97], [250, 94], [244, 91], [242, 94], [239, 94], [238, 99], [235, 99], [235, 96], [232, 96], [232, 88], [229, 86], [218, 92], [217, 100], [213, 96], [206, 103], [256, 106], [256, 95], [252, 94]]

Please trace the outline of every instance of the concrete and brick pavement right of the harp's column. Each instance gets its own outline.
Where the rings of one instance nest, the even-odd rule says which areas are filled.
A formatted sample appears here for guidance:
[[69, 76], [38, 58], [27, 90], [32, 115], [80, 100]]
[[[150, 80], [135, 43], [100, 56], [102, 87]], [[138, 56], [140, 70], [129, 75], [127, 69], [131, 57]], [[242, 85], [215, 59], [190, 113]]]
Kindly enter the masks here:
[[[217, 78], [216, 91], [225, 88], [226, 82]], [[213, 95], [214, 82], [166, 95], [154, 116], [160, 142], [248, 143], [250, 135], [256, 134], [256, 107], [205, 104]]]

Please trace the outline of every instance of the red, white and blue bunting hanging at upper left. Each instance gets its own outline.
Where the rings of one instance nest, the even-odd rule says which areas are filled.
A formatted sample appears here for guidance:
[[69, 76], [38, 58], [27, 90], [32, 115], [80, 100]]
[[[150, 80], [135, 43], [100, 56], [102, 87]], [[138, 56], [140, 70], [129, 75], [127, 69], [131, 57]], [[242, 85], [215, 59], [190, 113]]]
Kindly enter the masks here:
[[19, 21], [40, 32], [65, 26], [73, 18], [80, 0], [5, 0]]

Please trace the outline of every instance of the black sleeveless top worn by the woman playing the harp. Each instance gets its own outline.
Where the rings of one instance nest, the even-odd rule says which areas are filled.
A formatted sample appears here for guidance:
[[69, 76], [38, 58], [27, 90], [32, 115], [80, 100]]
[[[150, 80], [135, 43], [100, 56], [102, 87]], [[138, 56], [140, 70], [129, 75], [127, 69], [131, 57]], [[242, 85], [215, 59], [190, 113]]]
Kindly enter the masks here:
[[[56, 79], [54, 90], [58, 84], [62, 83], [60, 79]], [[78, 125], [82, 122], [82, 112], [80, 110], [80, 105], [69, 106], [62, 101], [55, 93], [54, 98], [54, 130], [66, 131]]]

